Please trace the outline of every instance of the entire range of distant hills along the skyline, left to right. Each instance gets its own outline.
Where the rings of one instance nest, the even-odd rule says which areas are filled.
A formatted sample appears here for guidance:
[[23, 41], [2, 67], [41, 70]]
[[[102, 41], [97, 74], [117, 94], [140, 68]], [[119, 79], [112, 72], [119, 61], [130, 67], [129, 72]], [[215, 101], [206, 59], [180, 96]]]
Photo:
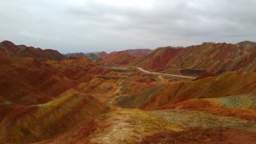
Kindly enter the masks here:
[[244, 41], [238, 44], [205, 42], [189, 47], [159, 47], [150, 49], [128, 49], [125, 51], [68, 53], [63, 56], [52, 49], [40, 49], [15, 45], [9, 41], [0, 43], [0, 49], [18, 56], [36, 58], [37, 60], [62, 60], [64, 58], [86, 56], [92, 61], [101, 61], [110, 66], [136, 66], [146, 69], [187, 68], [201, 69], [207, 72], [222, 73], [227, 71], [255, 72], [255, 42]]

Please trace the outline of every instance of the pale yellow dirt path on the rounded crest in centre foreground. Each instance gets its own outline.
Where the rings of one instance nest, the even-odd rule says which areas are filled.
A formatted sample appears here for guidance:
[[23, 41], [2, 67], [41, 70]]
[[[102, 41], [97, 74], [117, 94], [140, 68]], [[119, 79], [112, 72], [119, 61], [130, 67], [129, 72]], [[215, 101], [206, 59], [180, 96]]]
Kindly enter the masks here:
[[184, 129], [139, 109], [117, 108], [40, 144], [135, 144], [159, 131], [180, 132]]

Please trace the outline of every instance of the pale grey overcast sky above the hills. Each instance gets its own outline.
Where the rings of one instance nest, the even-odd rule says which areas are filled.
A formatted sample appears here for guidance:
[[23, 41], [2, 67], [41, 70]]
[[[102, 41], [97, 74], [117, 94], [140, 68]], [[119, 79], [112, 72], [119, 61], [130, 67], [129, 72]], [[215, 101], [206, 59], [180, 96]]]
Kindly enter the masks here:
[[256, 41], [255, 0], [0, 0], [0, 41], [60, 52]]

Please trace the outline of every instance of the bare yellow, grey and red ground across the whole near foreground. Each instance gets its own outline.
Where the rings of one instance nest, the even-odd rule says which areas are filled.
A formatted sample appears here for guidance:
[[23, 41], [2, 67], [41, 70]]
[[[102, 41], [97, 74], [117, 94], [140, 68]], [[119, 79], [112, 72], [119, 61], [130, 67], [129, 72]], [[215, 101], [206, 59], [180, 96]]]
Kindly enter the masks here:
[[106, 113], [42, 143], [253, 143], [256, 123], [180, 109]]

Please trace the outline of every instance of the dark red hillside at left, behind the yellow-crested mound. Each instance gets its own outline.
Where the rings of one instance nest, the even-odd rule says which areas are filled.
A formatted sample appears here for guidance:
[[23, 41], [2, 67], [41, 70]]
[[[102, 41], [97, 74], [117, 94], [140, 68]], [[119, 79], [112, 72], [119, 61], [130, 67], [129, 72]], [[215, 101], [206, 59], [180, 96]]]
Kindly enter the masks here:
[[41, 104], [77, 83], [90, 81], [88, 67], [94, 64], [87, 58], [36, 61], [0, 49], [0, 96], [14, 104]]

